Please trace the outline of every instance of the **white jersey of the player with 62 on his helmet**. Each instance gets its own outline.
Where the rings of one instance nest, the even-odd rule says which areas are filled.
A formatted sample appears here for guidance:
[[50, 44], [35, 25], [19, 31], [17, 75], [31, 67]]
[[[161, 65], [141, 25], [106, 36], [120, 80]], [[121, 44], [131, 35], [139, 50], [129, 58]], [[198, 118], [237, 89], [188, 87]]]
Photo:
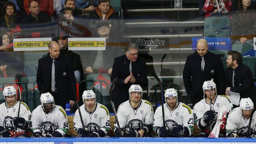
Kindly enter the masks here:
[[[85, 104], [83, 104], [80, 106], [80, 110], [82, 113], [83, 124], [88, 128], [89, 132], [92, 133], [102, 130], [106, 135], [108, 134], [108, 131], [111, 129], [111, 125], [109, 111], [106, 106], [96, 103], [95, 110], [90, 113], [86, 110]], [[83, 128], [78, 110], [76, 110], [73, 124], [76, 131], [79, 128]]]

